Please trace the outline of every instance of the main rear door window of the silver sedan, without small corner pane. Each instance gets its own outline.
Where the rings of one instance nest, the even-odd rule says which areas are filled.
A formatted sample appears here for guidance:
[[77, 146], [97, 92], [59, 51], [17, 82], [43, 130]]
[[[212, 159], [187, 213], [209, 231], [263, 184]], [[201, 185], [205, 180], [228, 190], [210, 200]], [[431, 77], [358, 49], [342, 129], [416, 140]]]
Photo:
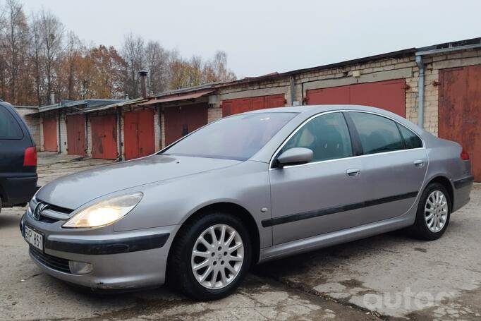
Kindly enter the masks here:
[[391, 119], [374, 114], [350, 112], [365, 155], [403, 150], [403, 139]]

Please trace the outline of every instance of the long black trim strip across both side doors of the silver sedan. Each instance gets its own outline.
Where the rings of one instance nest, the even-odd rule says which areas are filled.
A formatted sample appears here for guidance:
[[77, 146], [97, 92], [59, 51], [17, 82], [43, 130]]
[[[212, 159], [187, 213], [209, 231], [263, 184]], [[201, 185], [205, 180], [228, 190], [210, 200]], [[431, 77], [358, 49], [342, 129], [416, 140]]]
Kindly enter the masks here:
[[321, 217], [324, 215], [346, 212], [351, 210], [358, 210], [363, 207], [380, 205], [388, 202], [395, 202], [396, 200], [406, 200], [408, 198], [415, 198], [418, 192], [410, 192], [401, 195], [388, 196], [386, 198], [377, 198], [376, 200], [365, 200], [364, 202], [357, 202], [348, 205], [341, 205], [336, 207], [327, 207], [322, 210], [315, 210], [310, 212], [302, 212], [298, 214], [286, 215], [283, 217], [275, 217], [274, 219], [264, 219], [261, 223], [264, 227], [285, 224], [290, 222], [300, 221], [301, 219], [312, 219], [313, 217]]

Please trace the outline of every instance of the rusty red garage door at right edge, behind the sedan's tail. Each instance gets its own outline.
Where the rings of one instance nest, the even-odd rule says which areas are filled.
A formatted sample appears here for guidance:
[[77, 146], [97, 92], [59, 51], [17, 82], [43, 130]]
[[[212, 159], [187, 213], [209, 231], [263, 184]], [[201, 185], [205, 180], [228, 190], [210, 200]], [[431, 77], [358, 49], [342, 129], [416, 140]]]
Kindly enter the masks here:
[[463, 145], [481, 182], [481, 66], [439, 71], [439, 137]]

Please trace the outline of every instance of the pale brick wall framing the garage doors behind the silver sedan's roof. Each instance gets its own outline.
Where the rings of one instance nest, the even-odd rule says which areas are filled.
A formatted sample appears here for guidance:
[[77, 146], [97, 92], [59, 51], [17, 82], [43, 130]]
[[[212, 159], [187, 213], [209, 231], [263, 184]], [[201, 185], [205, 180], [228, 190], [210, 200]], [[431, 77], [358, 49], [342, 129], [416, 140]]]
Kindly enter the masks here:
[[[425, 62], [424, 127], [427, 131], [437, 135], [439, 86], [436, 82], [439, 82], [439, 70], [481, 64], [481, 49], [465, 49], [451, 54], [425, 56], [423, 61]], [[354, 78], [353, 71], [360, 71], [360, 77]], [[294, 75], [293, 78], [295, 101], [300, 104], [305, 104], [303, 99], [307, 96], [307, 90], [405, 79], [406, 119], [413, 123], [418, 122], [419, 69], [413, 55], [300, 73]], [[281, 93], [284, 93], [286, 97], [286, 105], [291, 105], [291, 86], [288, 76], [221, 88], [218, 94], [218, 108], [209, 109], [209, 122], [221, 118], [222, 100]]]

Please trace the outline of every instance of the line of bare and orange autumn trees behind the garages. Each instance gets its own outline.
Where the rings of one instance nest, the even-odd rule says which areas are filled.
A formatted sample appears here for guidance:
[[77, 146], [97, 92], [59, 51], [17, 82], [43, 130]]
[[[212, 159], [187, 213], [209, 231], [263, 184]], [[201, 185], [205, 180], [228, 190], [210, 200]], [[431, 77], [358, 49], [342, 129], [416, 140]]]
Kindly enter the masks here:
[[51, 90], [57, 102], [139, 97], [141, 70], [147, 70], [149, 93], [236, 79], [225, 52], [185, 59], [132, 34], [121, 52], [103, 44], [87, 47], [51, 11], [25, 16], [20, 1], [0, 0], [0, 98], [13, 104], [49, 104]]

